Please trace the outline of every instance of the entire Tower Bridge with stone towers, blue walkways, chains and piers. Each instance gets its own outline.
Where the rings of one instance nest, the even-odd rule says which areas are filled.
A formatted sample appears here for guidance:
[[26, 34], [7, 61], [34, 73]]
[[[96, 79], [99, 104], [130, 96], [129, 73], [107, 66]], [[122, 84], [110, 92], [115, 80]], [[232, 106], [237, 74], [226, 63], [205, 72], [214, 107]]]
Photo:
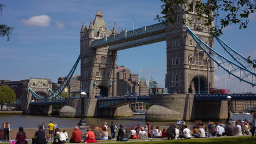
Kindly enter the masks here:
[[[194, 13], [180, 16], [193, 17]], [[144, 26], [133, 31], [123, 29], [117, 33], [114, 22], [113, 30], [109, 31], [101, 11], [90, 21], [89, 27], [82, 24], [80, 31], [80, 55], [67, 78], [56, 93], [51, 91], [49, 97], [41, 101], [26, 103], [27, 112], [30, 107], [63, 104], [62, 116], [80, 116], [79, 98], [59, 98], [59, 94], [68, 84], [73, 71], [81, 60], [82, 91], [88, 94], [85, 98], [85, 110], [88, 117], [108, 117], [120, 113], [131, 113], [126, 104], [140, 101], [152, 105], [147, 113], [147, 120], [169, 121], [177, 118], [226, 118], [228, 116], [225, 94], [200, 94], [214, 87], [214, 62], [230, 75], [251, 86], [256, 86], [255, 73], [250, 65], [244, 63], [245, 57], [238, 55], [220, 38], [224, 50], [229, 51], [233, 58], [243, 59], [234, 63], [213, 49], [213, 37], [210, 27], [196, 21], [188, 26], [182, 22], [164, 25]], [[191, 29], [190, 29], [191, 28]], [[131, 47], [156, 43], [166, 40], [167, 55], [167, 87], [170, 93], [140, 97], [117, 96], [117, 52]], [[97, 89], [107, 98], [95, 98]], [[198, 92], [198, 94], [195, 94]], [[189, 94], [194, 93], [194, 94]], [[232, 94], [234, 100], [255, 100], [256, 94]], [[59, 100], [54, 100], [59, 99]], [[211, 112], [208, 112], [211, 111]], [[121, 114], [122, 116], [126, 116]]]

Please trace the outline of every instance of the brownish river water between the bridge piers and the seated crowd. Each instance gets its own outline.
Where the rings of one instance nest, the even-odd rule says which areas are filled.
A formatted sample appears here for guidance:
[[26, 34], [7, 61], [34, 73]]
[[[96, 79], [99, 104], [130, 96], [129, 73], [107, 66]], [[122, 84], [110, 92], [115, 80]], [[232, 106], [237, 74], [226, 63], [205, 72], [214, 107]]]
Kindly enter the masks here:
[[[247, 118], [248, 117], [248, 118]], [[246, 115], [233, 115], [233, 119], [245, 119], [247, 118], [251, 121], [252, 116]], [[30, 116], [30, 115], [0, 115], [0, 124], [3, 122], [9, 122], [11, 129], [17, 129], [19, 127], [24, 128], [38, 128], [43, 122], [48, 125], [50, 121], [57, 123], [60, 128], [73, 128], [79, 123], [80, 118], [60, 118], [53, 116]], [[144, 115], [135, 115], [133, 117], [125, 118], [85, 118], [86, 123], [90, 126], [98, 126], [104, 122], [107, 122], [107, 125], [113, 121], [115, 125], [124, 124], [124, 127], [135, 127], [137, 124], [141, 126], [145, 125], [145, 116]], [[169, 126], [171, 124], [176, 124], [176, 122], [149, 122], [154, 126]], [[187, 125], [193, 125], [194, 122], [186, 122]], [[206, 123], [205, 123], [206, 124]]]

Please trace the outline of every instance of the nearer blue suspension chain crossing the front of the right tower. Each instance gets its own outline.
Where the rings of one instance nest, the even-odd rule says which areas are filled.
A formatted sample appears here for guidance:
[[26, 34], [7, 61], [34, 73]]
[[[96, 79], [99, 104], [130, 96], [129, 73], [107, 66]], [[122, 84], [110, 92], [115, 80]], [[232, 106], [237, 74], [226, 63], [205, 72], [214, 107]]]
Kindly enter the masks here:
[[[205, 44], [197, 35], [191, 31], [191, 29], [187, 26], [187, 31], [196, 41], [196, 44], [206, 53], [208, 57], [210, 57], [219, 67], [227, 71], [229, 74], [235, 76], [237, 79], [249, 83], [252, 86], [256, 86], [254, 82], [256, 74], [248, 69], [240, 67], [224, 56], [220, 55], [217, 51], [213, 50], [210, 46]], [[207, 50], [206, 50], [207, 49]], [[209, 52], [208, 52], [209, 51]], [[211, 54], [210, 54], [211, 53]]]

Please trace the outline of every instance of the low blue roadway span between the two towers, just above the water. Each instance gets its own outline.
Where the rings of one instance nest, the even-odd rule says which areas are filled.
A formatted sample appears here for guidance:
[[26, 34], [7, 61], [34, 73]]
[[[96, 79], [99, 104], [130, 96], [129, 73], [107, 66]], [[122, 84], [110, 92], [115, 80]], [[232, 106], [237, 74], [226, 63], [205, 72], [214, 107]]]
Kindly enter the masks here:
[[149, 103], [149, 96], [129, 96], [129, 97], [107, 97], [98, 98], [98, 107], [118, 107], [130, 102]]

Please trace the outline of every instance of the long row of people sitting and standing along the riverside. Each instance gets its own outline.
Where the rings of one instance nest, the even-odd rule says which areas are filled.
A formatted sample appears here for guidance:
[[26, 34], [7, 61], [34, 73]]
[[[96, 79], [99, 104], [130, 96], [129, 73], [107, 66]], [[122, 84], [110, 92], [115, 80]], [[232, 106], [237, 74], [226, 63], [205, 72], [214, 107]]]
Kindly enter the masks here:
[[[256, 110], [254, 111], [252, 121], [249, 122], [247, 119], [238, 119], [236, 122], [226, 122], [226, 123], [213, 123], [208, 121], [207, 124], [203, 125], [201, 121], [196, 121], [193, 130], [191, 131], [185, 122], [178, 119], [177, 124], [173, 124], [167, 129], [160, 129], [159, 127], [154, 127], [149, 123], [146, 123], [144, 127], [137, 124], [136, 127], [132, 127], [131, 130], [127, 131], [123, 124], [119, 125], [119, 128], [111, 122], [110, 131], [111, 135], [108, 134], [108, 125], [105, 122], [101, 129], [95, 127], [93, 130], [91, 128], [87, 129], [86, 134], [82, 135], [82, 131], [79, 127], [74, 127], [72, 136], [70, 140], [68, 139], [68, 133], [66, 130], [60, 130], [57, 124], [50, 122], [48, 124], [49, 128], [49, 139], [53, 139], [53, 144], [65, 143], [69, 141], [70, 143], [92, 143], [98, 142], [98, 140], [110, 140], [116, 139], [117, 141], [127, 141], [129, 139], [149, 139], [149, 138], [164, 138], [167, 137], [168, 140], [173, 139], [191, 139], [195, 138], [205, 138], [205, 137], [219, 137], [219, 136], [234, 136], [234, 135], [250, 135], [252, 137], [255, 134], [256, 128]], [[4, 140], [9, 140], [10, 124], [4, 122], [2, 124], [2, 129], [4, 131]], [[39, 126], [38, 130], [34, 134], [32, 143], [45, 144], [47, 142], [45, 135], [46, 125], [43, 123]], [[117, 133], [117, 136], [115, 134]], [[129, 134], [130, 133], [130, 134]], [[19, 132], [16, 134], [16, 143], [27, 144], [26, 133], [24, 128], [19, 127]], [[82, 141], [82, 138], [84, 141]]]

